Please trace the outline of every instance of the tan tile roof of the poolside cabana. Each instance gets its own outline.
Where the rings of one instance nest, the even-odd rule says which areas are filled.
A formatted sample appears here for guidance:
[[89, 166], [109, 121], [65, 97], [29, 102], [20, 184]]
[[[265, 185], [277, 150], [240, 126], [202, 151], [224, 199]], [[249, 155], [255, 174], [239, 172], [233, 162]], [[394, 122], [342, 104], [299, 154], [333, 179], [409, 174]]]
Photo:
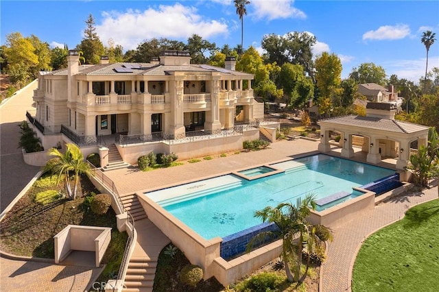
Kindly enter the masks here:
[[361, 116], [344, 116], [320, 120], [320, 123], [333, 123], [337, 125], [351, 125], [354, 127], [366, 127], [368, 129], [383, 130], [396, 133], [414, 133], [428, 130], [425, 125], [418, 125], [416, 123], [408, 123], [405, 121], [398, 121], [393, 119], [382, 119], [376, 117], [361, 117]]

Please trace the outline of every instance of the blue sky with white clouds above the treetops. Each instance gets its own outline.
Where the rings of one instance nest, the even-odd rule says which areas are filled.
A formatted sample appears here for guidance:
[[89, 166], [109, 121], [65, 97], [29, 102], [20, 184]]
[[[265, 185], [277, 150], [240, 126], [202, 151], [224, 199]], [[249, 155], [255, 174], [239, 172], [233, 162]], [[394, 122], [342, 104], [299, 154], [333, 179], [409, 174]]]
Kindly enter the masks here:
[[[335, 53], [342, 77], [355, 66], [374, 62], [391, 74], [418, 82], [425, 74], [422, 32], [436, 32], [429, 70], [439, 67], [439, 1], [290, 1], [250, 0], [244, 16], [244, 47], [260, 52], [265, 34], [309, 32], [318, 42], [313, 52]], [[241, 42], [241, 24], [233, 0], [182, 1], [0, 1], [0, 42], [21, 32], [52, 47], [78, 45], [88, 14], [93, 14], [104, 45], [112, 38], [124, 50], [143, 40], [186, 41], [199, 34], [218, 47]]]

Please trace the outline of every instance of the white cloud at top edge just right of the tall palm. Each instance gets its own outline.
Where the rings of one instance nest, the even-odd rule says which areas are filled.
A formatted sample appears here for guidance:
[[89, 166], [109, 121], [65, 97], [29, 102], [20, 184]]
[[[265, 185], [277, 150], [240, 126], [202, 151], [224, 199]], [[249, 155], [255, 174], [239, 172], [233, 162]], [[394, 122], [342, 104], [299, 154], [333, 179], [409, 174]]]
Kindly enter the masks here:
[[293, 0], [252, 0], [248, 9], [252, 8], [252, 15], [257, 19], [268, 19], [272, 21], [273, 19], [287, 19], [289, 17], [295, 19], [305, 19], [307, 15], [305, 12], [298, 10], [293, 7]]

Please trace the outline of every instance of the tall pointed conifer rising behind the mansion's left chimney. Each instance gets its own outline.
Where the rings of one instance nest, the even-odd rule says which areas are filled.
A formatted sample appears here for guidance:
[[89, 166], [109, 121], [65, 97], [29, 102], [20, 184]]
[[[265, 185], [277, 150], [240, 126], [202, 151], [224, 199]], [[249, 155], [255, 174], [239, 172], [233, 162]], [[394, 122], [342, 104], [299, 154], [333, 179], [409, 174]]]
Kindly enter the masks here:
[[76, 48], [84, 53], [83, 56], [86, 64], [99, 64], [101, 56], [104, 55], [104, 45], [95, 32], [95, 18], [92, 14], [88, 14], [85, 23], [84, 38], [82, 38], [80, 45]]

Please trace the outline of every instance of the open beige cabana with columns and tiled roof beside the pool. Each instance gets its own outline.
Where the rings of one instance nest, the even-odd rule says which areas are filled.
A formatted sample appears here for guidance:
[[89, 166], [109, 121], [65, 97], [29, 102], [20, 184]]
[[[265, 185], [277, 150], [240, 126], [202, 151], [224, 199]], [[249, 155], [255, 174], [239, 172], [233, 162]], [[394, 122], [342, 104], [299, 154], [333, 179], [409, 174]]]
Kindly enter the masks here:
[[418, 149], [420, 145], [427, 145], [428, 127], [393, 119], [394, 110], [386, 106], [388, 104], [370, 104], [366, 117], [349, 115], [320, 120], [318, 150], [331, 151], [329, 141], [331, 133], [336, 131], [341, 133], [342, 157], [353, 157], [355, 144], [367, 153], [367, 162], [377, 164], [382, 158], [392, 157], [397, 158], [396, 169], [404, 169], [410, 153], [416, 151], [411, 146]]

